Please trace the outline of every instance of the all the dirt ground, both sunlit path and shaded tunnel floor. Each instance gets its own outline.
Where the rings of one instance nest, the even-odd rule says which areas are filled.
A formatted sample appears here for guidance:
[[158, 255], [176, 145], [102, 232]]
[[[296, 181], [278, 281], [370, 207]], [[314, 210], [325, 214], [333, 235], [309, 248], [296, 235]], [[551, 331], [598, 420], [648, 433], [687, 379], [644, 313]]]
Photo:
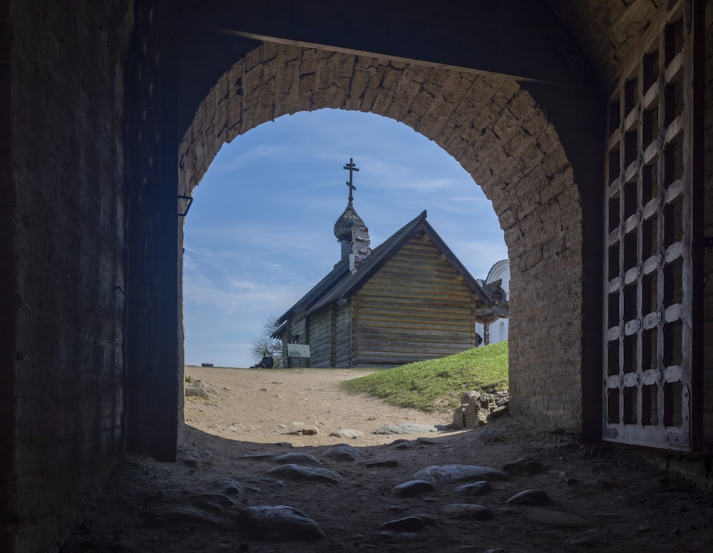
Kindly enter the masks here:
[[[207, 397], [186, 398], [186, 426], [178, 461], [126, 455], [86, 507], [64, 553], [113, 552], [707, 552], [713, 544], [713, 497], [691, 482], [611, 445], [583, 445], [576, 436], [531, 430], [505, 415], [475, 430], [378, 435], [384, 425], [447, 425], [451, 415], [394, 408], [349, 396], [340, 381], [349, 369], [245, 370], [188, 366], [207, 384]], [[299, 424], [295, 424], [299, 423]], [[317, 434], [291, 434], [299, 428]], [[359, 430], [359, 438], [330, 435]], [[405, 438], [405, 440], [403, 440]], [[395, 440], [402, 440], [394, 443]], [[322, 454], [349, 443], [363, 460]], [[309, 453], [342, 476], [339, 484], [265, 480], [275, 457]], [[396, 485], [430, 465], [501, 469], [530, 458], [537, 474], [493, 481], [473, 497], [458, 483], [436, 483], [415, 497]], [[379, 465], [376, 461], [388, 461]], [[235, 495], [215, 480], [244, 486]], [[270, 475], [267, 475], [270, 477]], [[530, 503], [508, 502], [524, 490], [543, 490]], [[549, 500], [546, 498], [549, 497]], [[492, 517], [457, 517], [447, 505], [477, 504]], [[271, 542], [250, 534], [245, 507], [289, 505], [324, 532], [316, 541]], [[479, 511], [482, 514], [482, 510]], [[384, 532], [381, 525], [411, 515], [421, 529]], [[413, 522], [414, 519], [411, 519]]]

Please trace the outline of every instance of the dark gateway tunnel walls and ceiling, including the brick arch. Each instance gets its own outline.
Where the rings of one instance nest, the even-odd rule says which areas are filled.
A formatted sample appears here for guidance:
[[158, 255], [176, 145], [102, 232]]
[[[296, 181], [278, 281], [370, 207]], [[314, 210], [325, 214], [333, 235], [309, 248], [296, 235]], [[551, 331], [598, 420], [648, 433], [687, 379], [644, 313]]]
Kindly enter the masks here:
[[[680, 279], [678, 269], [662, 272], [674, 285], [662, 281], [661, 297], [677, 298], [681, 289], [686, 299], [655, 321], [672, 329], [658, 343], [673, 332], [691, 347], [684, 357], [662, 349], [662, 378], [673, 390], [662, 396], [673, 406], [662, 423], [682, 423], [676, 405], [689, 408], [690, 442], [670, 447], [706, 452], [713, 434], [713, 348], [705, 339], [713, 294], [704, 286], [713, 235], [711, 6], [509, 0], [463, 2], [437, 14], [419, 4], [402, 19], [376, 1], [358, 14], [329, 2], [1, 4], [0, 68], [9, 76], [0, 83], [3, 548], [51, 549], [123, 451], [175, 458], [183, 425], [177, 196], [190, 195], [222, 143], [318, 108], [399, 120], [483, 187], [512, 259], [513, 413], [593, 440], [617, 416], [620, 434], [648, 421], [632, 415], [643, 400], [624, 390], [653, 384], [637, 382], [623, 361], [617, 375], [602, 371], [615, 355], [605, 340], [619, 341], [617, 356], [630, 356], [626, 337], [648, 324], [627, 319], [632, 294], [624, 290], [621, 316], [633, 323], [606, 326], [605, 282], [616, 286], [617, 275], [602, 273], [618, 240], [605, 224], [617, 198], [613, 152], [625, 185], [618, 213], [635, 226], [627, 170], [651, 175], [632, 155], [644, 143], [631, 136], [652, 139], [659, 125], [659, 146], [672, 146], [659, 182], [672, 184], [673, 175], [684, 191], [669, 187], [662, 220], [685, 221], [689, 230], [679, 234], [690, 238], [676, 257], [679, 234], [657, 235], [670, 250], [660, 252], [662, 262], [686, 267]], [[431, 40], [416, 39], [421, 29]], [[655, 69], [652, 43], [671, 45], [657, 58], [664, 65], [656, 118], [645, 109], [656, 88], [643, 88]], [[647, 73], [633, 79], [635, 67]], [[622, 114], [620, 138], [612, 105]], [[681, 105], [689, 110], [667, 118], [667, 108]], [[622, 236], [633, 236], [634, 226], [620, 224]], [[632, 250], [631, 239], [621, 243], [617, 259]], [[639, 278], [636, 267], [621, 262], [624, 269], [634, 271], [622, 282]], [[619, 326], [622, 337], [609, 339]], [[602, 386], [621, 392], [618, 415], [602, 409]]]

